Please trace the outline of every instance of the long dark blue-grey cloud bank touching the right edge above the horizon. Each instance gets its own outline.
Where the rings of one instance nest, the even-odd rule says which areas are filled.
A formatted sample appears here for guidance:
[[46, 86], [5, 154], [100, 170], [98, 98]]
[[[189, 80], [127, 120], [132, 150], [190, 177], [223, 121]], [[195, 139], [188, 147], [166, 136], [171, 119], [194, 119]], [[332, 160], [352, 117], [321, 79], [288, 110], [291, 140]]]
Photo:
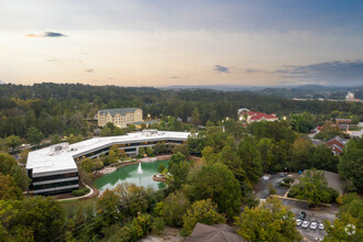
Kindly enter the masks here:
[[295, 79], [298, 81], [362, 85], [363, 62], [358, 59], [326, 62], [301, 66], [285, 65], [282, 69], [277, 69], [272, 74], [284, 79]]

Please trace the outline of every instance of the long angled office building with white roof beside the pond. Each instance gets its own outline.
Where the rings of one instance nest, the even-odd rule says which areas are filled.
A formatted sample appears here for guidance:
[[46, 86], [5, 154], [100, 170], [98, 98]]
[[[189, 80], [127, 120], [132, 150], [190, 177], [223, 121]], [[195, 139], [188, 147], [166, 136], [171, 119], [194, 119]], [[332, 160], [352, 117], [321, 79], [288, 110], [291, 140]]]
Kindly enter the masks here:
[[127, 135], [94, 138], [68, 145], [61, 143], [29, 153], [26, 174], [32, 179], [29, 187], [33, 195], [66, 194], [78, 189], [78, 167], [76, 162], [108, 154], [112, 145], [123, 150], [129, 156], [139, 154], [141, 147], [152, 147], [157, 143], [184, 144], [188, 132], [143, 130]]

